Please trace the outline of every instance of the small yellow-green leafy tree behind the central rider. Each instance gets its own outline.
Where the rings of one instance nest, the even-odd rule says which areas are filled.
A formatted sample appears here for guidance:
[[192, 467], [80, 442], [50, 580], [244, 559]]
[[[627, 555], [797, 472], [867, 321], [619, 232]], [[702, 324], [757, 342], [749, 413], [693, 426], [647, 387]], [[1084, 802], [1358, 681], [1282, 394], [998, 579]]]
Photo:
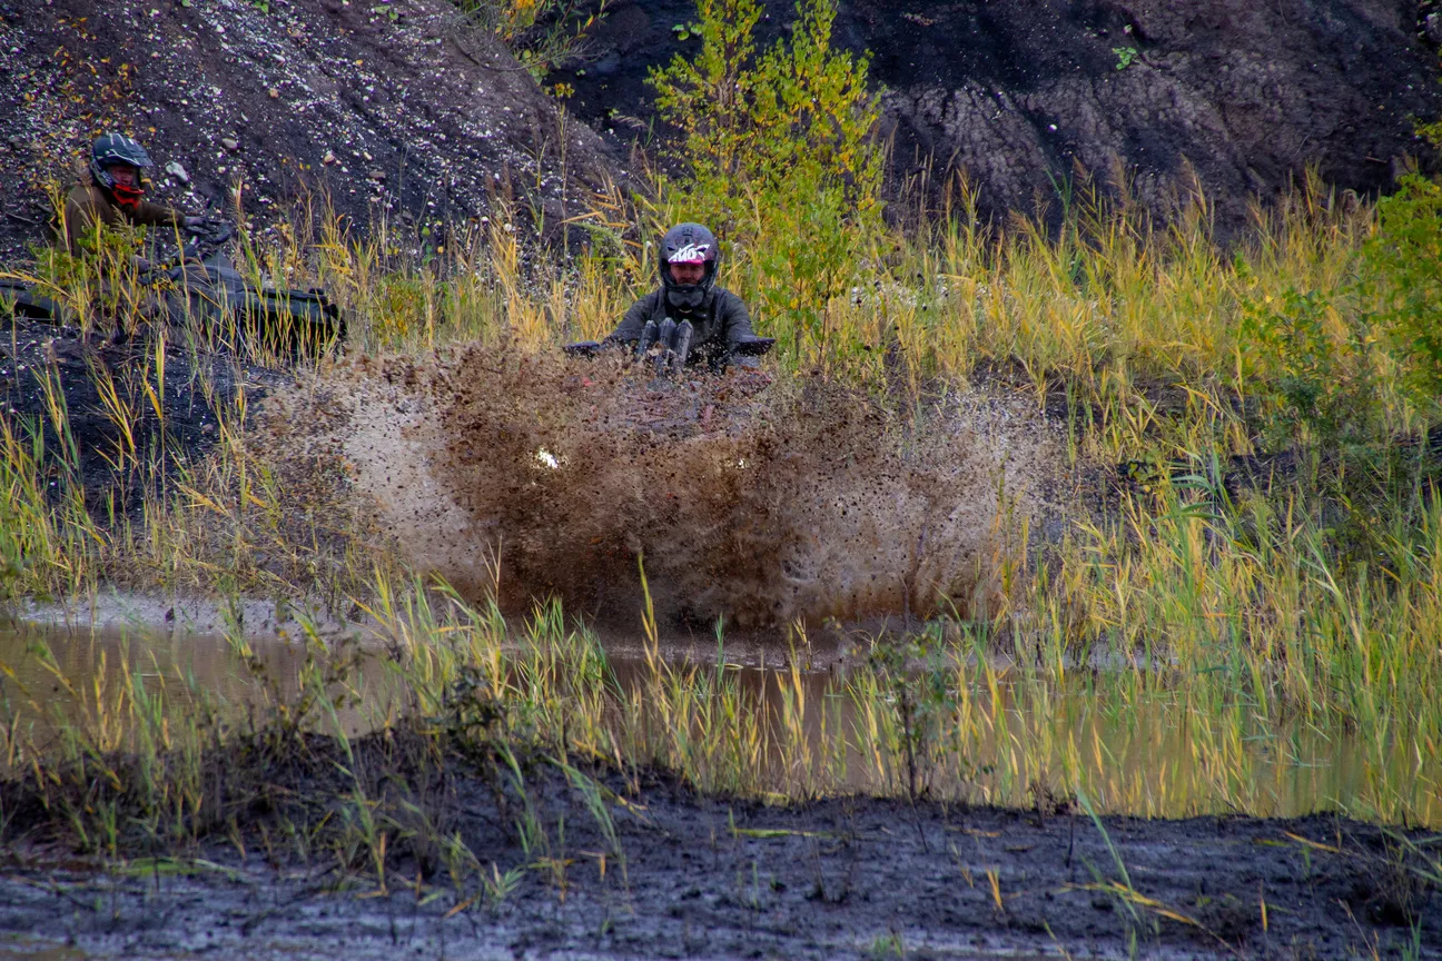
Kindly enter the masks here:
[[656, 107], [682, 133], [681, 207], [734, 245], [783, 337], [826, 350], [826, 316], [881, 223], [883, 150], [870, 58], [831, 46], [835, 0], [800, 0], [792, 39], [757, 55], [757, 0], [698, 0], [701, 53], [653, 71]]

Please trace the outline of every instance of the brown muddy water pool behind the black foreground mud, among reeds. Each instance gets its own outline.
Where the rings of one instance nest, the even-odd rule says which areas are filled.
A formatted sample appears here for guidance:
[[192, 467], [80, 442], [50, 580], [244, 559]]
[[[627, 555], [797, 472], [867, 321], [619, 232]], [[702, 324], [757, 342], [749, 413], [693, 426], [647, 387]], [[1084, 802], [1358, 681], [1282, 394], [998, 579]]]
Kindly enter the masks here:
[[[770, 641], [770, 643], [769, 643]], [[647, 674], [643, 645], [630, 635], [601, 635], [622, 687]], [[709, 670], [715, 638], [665, 640], [672, 663]], [[812, 706], [802, 729], [813, 758], [832, 762], [826, 787], [841, 792], [898, 794], [901, 771], [862, 745], [871, 723], [864, 699], [848, 686], [855, 654], [818, 644], [786, 663], [784, 644], [760, 634], [727, 638], [721, 660], [738, 681], [743, 703], [776, 733], [789, 699]], [[376, 645], [359, 648], [350, 697], [333, 720], [353, 736], [394, 718], [395, 677]], [[252, 637], [236, 644], [221, 634], [157, 630], [84, 630], [12, 624], [0, 627], [0, 722], [7, 739], [25, 733], [43, 742], [63, 722], [94, 722], [97, 705], [138, 679], [163, 690], [169, 703], [212, 703], [264, 716], [300, 689], [306, 647], [287, 637]], [[1139, 817], [1191, 817], [1244, 813], [1302, 817], [1338, 811], [1367, 820], [1406, 818], [1442, 826], [1442, 762], [1403, 743], [1364, 743], [1305, 725], [1275, 729], [1256, 719], [1217, 718], [1167, 696], [1118, 697], [1100, 686], [1025, 686], [998, 669], [995, 690], [986, 671], [955, 681], [953, 697], [963, 743], [947, 778], [962, 772], [962, 788], [943, 797], [965, 803], [1031, 807], [1082, 785], [1097, 810]], [[1038, 693], [1040, 692], [1040, 693]], [[819, 706], [819, 709], [816, 709]], [[1244, 712], [1240, 712], [1244, 713]], [[838, 738], [846, 743], [838, 745]], [[787, 784], [795, 752], [770, 745], [777, 787]], [[959, 765], [959, 766], [956, 766]], [[839, 771], [839, 775], [838, 775]], [[950, 782], [950, 781], [947, 781]], [[930, 785], [934, 787], [934, 785]]]

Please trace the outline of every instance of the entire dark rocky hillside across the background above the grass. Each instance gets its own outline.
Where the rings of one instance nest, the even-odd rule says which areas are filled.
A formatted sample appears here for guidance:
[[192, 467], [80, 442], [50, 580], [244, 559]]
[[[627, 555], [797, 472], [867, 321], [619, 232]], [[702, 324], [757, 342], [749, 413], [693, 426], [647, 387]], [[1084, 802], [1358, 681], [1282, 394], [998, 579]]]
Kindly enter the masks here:
[[[766, 6], [777, 36], [793, 0]], [[1226, 232], [1309, 166], [1374, 192], [1428, 160], [1413, 127], [1442, 115], [1435, 6], [842, 0], [836, 39], [872, 52], [900, 176], [965, 170], [988, 215], [1034, 209], [1077, 169], [1122, 171], [1162, 213], [1200, 183]], [[692, 0], [614, 0], [584, 62], [551, 78], [590, 124], [562, 133], [448, 0], [0, 0], [0, 157], [19, 170], [0, 258], [42, 233], [42, 186], [107, 128], [143, 137], [162, 196], [190, 207], [239, 183], [264, 215], [323, 186], [356, 225], [415, 226], [515, 190], [554, 228], [624, 179], [627, 141], [656, 143], [646, 73], [698, 49], [675, 29], [694, 19]]]

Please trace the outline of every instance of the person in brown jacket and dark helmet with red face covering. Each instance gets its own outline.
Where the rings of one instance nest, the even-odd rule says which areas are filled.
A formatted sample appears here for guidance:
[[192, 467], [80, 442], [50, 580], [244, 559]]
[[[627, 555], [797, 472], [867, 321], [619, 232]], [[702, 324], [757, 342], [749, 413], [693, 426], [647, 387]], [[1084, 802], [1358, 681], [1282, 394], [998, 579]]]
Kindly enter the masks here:
[[[59, 239], [75, 254], [76, 241], [92, 236], [99, 225], [196, 226], [200, 218], [144, 199], [141, 170], [151, 167], [150, 154], [124, 134], [105, 134], [91, 144], [89, 183], [78, 183], [65, 199]], [[137, 267], [149, 267], [137, 258]]]

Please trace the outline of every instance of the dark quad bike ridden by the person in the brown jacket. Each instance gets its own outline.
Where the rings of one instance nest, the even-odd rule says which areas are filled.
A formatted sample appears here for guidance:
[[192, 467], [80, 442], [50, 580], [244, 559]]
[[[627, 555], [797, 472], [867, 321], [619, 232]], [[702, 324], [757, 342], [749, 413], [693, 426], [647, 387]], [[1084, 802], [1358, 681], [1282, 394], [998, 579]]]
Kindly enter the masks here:
[[[229, 225], [189, 228], [192, 239], [166, 262], [140, 275], [156, 297], [157, 313], [176, 331], [198, 330], [216, 339], [262, 343], [290, 353], [316, 353], [345, 340], [340, 310], [324, 291], [258, 287], [236, 271], [222, 246]], [[0, 280], [0, 316], [66, 323], [66, 308], [25, 281]]]

